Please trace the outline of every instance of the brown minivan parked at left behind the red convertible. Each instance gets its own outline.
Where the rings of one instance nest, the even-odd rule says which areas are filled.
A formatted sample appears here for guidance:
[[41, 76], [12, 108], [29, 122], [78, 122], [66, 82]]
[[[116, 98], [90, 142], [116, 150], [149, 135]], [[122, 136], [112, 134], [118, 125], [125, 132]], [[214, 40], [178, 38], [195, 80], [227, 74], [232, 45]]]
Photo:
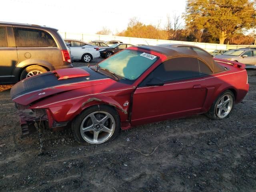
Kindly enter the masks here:
[[70, 52], [58, 30], [0, 22], [0, 84], [70, 67]]

